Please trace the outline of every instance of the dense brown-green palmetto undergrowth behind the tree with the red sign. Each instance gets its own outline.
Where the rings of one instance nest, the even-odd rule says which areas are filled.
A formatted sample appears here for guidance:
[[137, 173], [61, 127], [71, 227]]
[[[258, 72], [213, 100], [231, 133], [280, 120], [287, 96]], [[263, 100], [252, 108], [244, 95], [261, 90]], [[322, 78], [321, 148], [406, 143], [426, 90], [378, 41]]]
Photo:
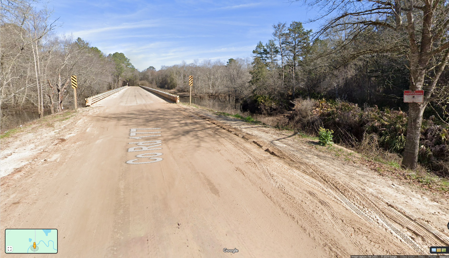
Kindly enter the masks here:
[[[330, 141], [348, 144], [367, 153], [387, 150], [401, 154], [407, 136], [407, 113], [377, 106], [365, 107], [339, 100], [295, 99], [286, 127], [306, 133], [326, 135]], [[449, 127], [423, 120], [418, 162], [437, 176], [449, 177]], [[321, 143], [323, 142], [323, 143]], [[320, 144], [326, 145], [325, 140]]]

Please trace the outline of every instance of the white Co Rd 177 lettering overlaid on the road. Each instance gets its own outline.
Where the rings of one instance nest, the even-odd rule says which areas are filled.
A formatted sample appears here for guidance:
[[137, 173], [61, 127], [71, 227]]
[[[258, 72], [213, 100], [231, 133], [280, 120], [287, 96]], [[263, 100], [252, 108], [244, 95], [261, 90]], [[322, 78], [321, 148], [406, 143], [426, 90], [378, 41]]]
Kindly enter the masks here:
[[[132, 128], [129, 136], [134, 136], [134, 137], [130, 137], [130, 139], [137, 139], [137, 140], [141, 140], [143, 138], [161, 136], [161, 134], [151, 134], [151, 133], [161, 133], [161, 132], [137, 132], [137, 130], [157, 130], [157, 129], [160, 129], [160, 128]], [[136, 134], [144, 134], [144, 133], [146, 133], [148, 135], [136, 136]], [[162, 150], [162, 147], [155, 148], [158, 146], [162, 146], [162, 140], [130, 142], [129, 144], [136, 144], [137, 146], [128, 148], [128, 152], [147, 151], [147, 150]], [[140, 160], [139, 159], [131, 159], [131, 160], [128, 160], [126, 163], [128, 163], [128, 164], [154, 163], [154, 162], [158, 162], [158, 161], [162, 160], [162, 158], [157, 158], [160, 155], [162, 155], [162, 153], [160, 153], [160, 152], [142, 153], [142, 154], [136, 155], [136, 158], [145, 158], [144, 160], [147, 160], [147, 159], [150, 159], [150, 160], [154, 159], [154, 160], [144, 161], [144, 162], [136, 162], [136, 161], [140, 161]]]

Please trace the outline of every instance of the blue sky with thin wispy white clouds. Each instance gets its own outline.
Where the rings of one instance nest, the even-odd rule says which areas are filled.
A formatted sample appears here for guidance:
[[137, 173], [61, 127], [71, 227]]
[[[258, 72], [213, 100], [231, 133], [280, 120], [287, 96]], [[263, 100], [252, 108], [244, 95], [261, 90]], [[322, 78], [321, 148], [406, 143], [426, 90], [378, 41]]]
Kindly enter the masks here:
[[314, 15], [286, 0], [53, 0], [48, 7], [62, 22], [58, 33], [81, 37], [105, 54], [123, 52], [140, 70], [182, 60], [245, 58], [271, 38], [274, 23]]

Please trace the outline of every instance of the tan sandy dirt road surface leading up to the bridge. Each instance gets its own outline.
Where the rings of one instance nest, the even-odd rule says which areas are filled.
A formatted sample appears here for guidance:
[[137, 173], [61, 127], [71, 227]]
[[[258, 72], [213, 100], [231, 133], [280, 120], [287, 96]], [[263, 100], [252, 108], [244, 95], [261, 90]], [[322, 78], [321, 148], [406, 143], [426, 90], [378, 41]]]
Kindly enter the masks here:
[[[1, 237], [57, 228], [58, 253], [2, 256], [348, 257], [426, 254], [448, 239], [288, 151], [281, 159], [280, 149], [141, 88], [91, 108], [40, 155], [46, 162], [1, 178]], [[152, 137], [130, 138], [141, 136]], [[128, 151], [157, 140], [161, 149]]]

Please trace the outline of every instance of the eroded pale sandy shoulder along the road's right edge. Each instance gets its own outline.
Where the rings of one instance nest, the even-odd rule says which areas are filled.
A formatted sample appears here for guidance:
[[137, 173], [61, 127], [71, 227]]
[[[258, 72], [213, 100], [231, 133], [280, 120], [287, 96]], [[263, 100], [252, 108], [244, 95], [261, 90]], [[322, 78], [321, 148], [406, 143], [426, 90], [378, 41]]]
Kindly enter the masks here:
[[[316, 141], [301, 138], [291, 131], [216, 116], [201, 108], [184, 108], [287, 161], [284, 171], [271, 175], [284, 193], [300, 196], [304, 189], [299, 189], [295, 180], [309, 180], [313, 182], [311, 188], [315, 188], [311, 193], [313, 198], [329, 198], [339, 203], [417, 253], [435, 243], [449, 245], [447, 196], [420, 189], [399, 178], [381, 176], [363, 162], [361, 155], [344, 147], [335, 145], [345, 153], [340, 157], [318, 150], [314, 147]], [[298, 199], [298, 202], [302, 201]], [[326, 210], [326, 202], [320, 203], [317, 207], [321, 205]], [[343, 221], [343, 216], [340, 219]], [[343, 221], [343, 228], [352, 228], [353, 224]], [[361, 235], [369, 234], [362, 232]], [[373, 235], [370, 237], [375, 241]]]

